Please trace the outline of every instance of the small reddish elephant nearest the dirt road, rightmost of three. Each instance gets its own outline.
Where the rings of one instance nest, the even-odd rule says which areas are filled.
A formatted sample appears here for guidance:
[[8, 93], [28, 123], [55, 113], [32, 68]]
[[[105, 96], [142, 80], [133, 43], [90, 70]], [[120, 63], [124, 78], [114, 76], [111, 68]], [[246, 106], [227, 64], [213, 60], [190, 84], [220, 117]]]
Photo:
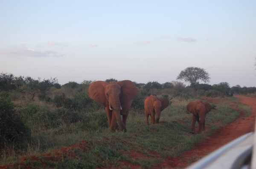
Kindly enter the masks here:
[[191, 131], [195, 133], [195, 121], [198, 122], [198, 133], [205, 130], [206, 114], [212, 110], [212, 106], [204, 101], [191, 101], [186, 106], [187, 110], [193, 114]]

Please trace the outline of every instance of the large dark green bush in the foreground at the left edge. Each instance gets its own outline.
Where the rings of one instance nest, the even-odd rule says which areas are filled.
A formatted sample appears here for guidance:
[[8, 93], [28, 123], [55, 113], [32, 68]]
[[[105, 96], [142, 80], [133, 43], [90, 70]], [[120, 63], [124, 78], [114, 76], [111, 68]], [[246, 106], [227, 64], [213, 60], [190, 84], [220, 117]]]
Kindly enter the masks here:
[[26, 146], [25, 140], [31, 138], [31, 132], [11, 102], [9, 93], [3, 92], [0, 98], [0, 148], [6, 143], [15, 143], [17, 147]]

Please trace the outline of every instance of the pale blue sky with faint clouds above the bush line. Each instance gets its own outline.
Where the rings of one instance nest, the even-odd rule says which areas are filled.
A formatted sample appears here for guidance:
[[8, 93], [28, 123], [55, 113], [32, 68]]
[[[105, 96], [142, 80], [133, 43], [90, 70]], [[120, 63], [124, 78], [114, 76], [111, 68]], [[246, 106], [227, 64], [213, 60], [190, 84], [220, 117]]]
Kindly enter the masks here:
[[210, 85], [253, 87], [255, 9], [256, 0], [0, 0], [0, 73], [165, 83], [198, 67]]

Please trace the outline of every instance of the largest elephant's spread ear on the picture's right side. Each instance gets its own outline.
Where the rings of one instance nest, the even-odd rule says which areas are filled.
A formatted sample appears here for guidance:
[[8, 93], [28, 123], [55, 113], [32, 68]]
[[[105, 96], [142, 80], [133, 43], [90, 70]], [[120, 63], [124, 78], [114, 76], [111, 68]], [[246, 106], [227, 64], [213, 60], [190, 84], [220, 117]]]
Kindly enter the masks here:
[[120, 103], [123, 104], [127, 101], [130, 101], [136, 97], [138, 89], [130, 80], [122, 80], [116, 82], [116, 84], [121, 86], [121, 96]]

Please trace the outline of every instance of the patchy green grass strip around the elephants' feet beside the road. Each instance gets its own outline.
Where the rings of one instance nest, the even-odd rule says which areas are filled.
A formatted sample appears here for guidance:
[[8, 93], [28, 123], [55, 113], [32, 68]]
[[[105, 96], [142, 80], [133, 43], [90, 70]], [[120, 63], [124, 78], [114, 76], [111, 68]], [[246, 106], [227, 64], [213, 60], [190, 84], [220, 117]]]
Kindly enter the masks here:
[[[239, 103], [239, 111], [236, 111], [230, 105], [238, 101], [235, 98], [226, 99], [225, 102], [214, 104], [215, 110], [207, 114], [206, 125], [210, 126], [209, 131], [196, 135], [190, 132], [191, 113], [186, 110], [186, 105], [192, 100], [173, 99], [172, 105], [161, 112], [162, 124], [156, 125], [146, 126], [144, 112], [131, 110], [127, 119], [126, 133], [110, 132], [103, 109], [88, 114], [74, 112], [77, 113], [78, 118], [81, 116], [82, 120], [70, 123], [57, 116], [53, 116], [57, 119], [52, 120], [51, 115], [41, 115], [43, 110], [44, 112], [49, 110], [48, 113], [51, 113], [51, 107], [42, 105], [36, 110], [37, 108], [32, 106], [33, 111], [30, 112], [32, 116], [27, 120], [32, 126], [32, 141], [28, 142], [28, 148], [22, 155], [15, 154], [14, 149], [9, 147], [9, 155], [3, 153], [0, 165], [12, 164], [16, 168], [22, 168], [19, 161], [23, 155], [34, 155], [41, 158], [37, 160], [26, 158], [25, 164], [39, 169], [45, 166], [56, 169], [90, 169], [103, 166], [120, 168], [122, 161], [136, 164], [138, 168], [140, 166], [151, 168], [163, 163], [163, 158], [167, 156], [180, 156], [196, 142], [202, 141], [207, 135], [234, 121], [239, 117], [240, 111], [244, 112], [244, 116], [252, 112], [250, 107]], [[59, 150], [84, 140], [86, 144], [79, 143], [78, 146], [70, 147], [65, 151]], [[54, 152], [55, 150], [59, 150], [58, 153]], [[144, 157], [132, 158], [129, 152], [141, 153]], [[158, 155], [152, 155], [151, 152], [156, 152]], [[41, 156], [48, 153], [49, 157]], [[191, 163], [193, 159], [189, 161]]]

